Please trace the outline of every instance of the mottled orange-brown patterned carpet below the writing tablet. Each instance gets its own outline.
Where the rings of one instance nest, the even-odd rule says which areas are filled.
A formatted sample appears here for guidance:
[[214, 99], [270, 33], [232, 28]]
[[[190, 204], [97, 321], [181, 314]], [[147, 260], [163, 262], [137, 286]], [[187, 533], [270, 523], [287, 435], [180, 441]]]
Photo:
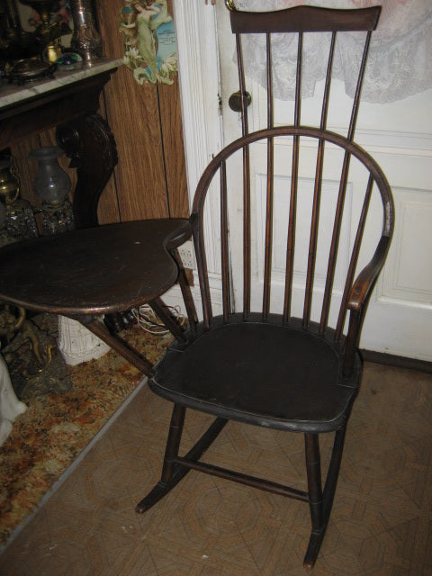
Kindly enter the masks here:
[[[172, 339], [135, 327], [121, 332], [121, 338], [150, 362], [161, 356]], [[28, 409], [15, 419], [11, 436], [0, 446], [0, 548], [38, 509], [45, 494], [142, 379], [113, 351], [67, 366], [66, 372], [72, 385], [65, 388], [70, 390], [23, 399]]]

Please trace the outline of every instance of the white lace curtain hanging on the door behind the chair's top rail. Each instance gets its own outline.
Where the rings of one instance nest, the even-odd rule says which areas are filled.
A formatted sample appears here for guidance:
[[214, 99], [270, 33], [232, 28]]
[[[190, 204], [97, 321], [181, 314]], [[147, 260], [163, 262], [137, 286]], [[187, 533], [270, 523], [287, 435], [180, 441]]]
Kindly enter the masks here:
[[[366, 68], [362, 100], [388, 103], [402, 100], [432, 87], [432, 2], [431, 0], [236, 0], [238, 10], [281, 10], [299, 4], [327, 8], [365, 8], [383, 4], [380, 22], [373, 34]], [[345, 82], [348, 95], [356, 90], [356, 71], [362, 56], [364, 32], [339, 34], [333, 77]], [[263, 34], [242, 40], [247, 76], [266, 86], [266, 49]], [[325, 76], [330, 34], [305, 34], [303, 40], [303, 96], [312, 96], [315, 84]], [[326, 51], [327, 49], [327, 51]], [[274, 92], [277, 98], [294, 97], [297, 35], [275, 34]], [[287, 56], [288, 60], [287, 60]], [[290, 61], [291, 58], [291, 61]], [[277, 70], [284, 70], [278, 75]]]

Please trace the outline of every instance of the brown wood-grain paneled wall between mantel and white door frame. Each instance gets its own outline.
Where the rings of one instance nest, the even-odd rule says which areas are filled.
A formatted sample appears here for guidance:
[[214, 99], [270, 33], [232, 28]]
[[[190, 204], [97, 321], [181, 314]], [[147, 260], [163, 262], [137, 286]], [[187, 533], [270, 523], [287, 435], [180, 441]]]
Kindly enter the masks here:
[[[125, 0], [95, 0], [106, 58], [123, 55], [119, 22], [125, 4]], [[172, 1], [168, 4], [169, 14], [173, 14]], [[111, 126], [119, 157], [99, 202], [99, 222], [187, 216], [178, 81], [173, 85], [138, 85], [131, 71], [121, 66], [104, 88], [99, 113]], [[47, 130], [11, 148], [20, 170], [22, 196], [32, 205], [38, 205], [40, 199], [32, 192], [37, 164], [28, 159], [28, 153], [55, 142], [55, 130]], [[67, 168], [67, 157], [61, 158], [60, 164]], [[67, 172], [72, 180], [72, 196], [76, 174], [73, 169]]]

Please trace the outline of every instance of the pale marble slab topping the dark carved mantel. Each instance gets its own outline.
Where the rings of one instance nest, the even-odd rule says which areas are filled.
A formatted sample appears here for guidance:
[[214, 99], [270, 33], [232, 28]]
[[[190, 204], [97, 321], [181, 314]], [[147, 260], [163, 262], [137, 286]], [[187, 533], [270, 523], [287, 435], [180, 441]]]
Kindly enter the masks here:
[[4, 83], [4, 85], [0, 87], [0, 110], [4, 110], [16, 103], [31, 100], [31, 98], [35, 98], [40, 94], [57, 90], [62, 86], [74, 84], [91, 76], [97, 76], [121, 66], [122, 62], [122, 58], [106, 58], [95, 61], [90, 66], [82, 67], [78, 70], [57, 70], [54, 78], [29, 82], [21, 86]]

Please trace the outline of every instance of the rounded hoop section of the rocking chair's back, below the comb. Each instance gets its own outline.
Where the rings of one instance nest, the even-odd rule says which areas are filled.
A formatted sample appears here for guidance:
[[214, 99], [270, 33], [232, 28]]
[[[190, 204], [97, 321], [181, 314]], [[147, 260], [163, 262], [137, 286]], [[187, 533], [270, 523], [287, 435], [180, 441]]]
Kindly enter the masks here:
[[[390, 186], [383, 175], [383, 171], [378, 166], [378, 164], [363, 148], [356, 145], [355, 142], [348, 140], [347, 138], [340, 136], [329, 130], [320, 130], [318, 128], [311, 127], [295, 127], [295, 126], [283, 126], [277, 128], [269, 128], [265, 130], [259, 130], [257, 132], [247, 134], [247, 136], [241, 137], [229, 144], [224, 148], [216, 157], [213, 158], [210, 165], [204, 171], [202, 178], [198, 184], [195, 197], [193, 200], [193, 213], [191, 216], [191, 221], [193, 224], [193, 238], [195, 245], [195, 254], [197, 257], [197, 266], [200, 277], [200, 286], [202, 291], [202, 310], [204, 322], [207, 326], [211, 326], [213, 319], [213, 306], [212, 306], [212, 287], [209, 281], [208, 275], [208, 263], [206, 256], [206, 218], [205, 218], [205, 205], [206, 202], [211, 200], [211, 202], [219, 203], [219, 229], [220, 229], [220, 289], [221, 289], [221, 313], [225, 321], [229, 320], [230, 314], [238, 312], [238, 308], [234, 306], [232, 302], [233, 293], [233, 273], [238, 271], [232, 271], [229, 264], [229, 253], [231, 247], [229, 247], [230, 239], [230, 226], [231, 222], [236, 219], [232, 217], [232, 213], [229, 211], [230, 199], [233, 193], [238, 193], [238, 188], [236, 187], [234, 191], [231, 190], [229, 185], [229, 173], [230, 173], [230, 161], [237, 153], [240, 153], [245, 148], [248, 149], [248, 158], [255, 157], [255, 149], [266, 145], [268, 140], [272, 140], [275, 144], [277, 140], [281, 140], [284, 145], [284, 149], [287, 151], [287, 155], [290, 154], [290, 148], [293, 148], [295, 142], [298, 142], [299, 146], [303, 142], [308, 142], [309, 147], [317, 150], [317, 164], [323, 162], [323, 147], [326, 144], [328, 147], [331, 146], [332, 153], [335, 154], [340, 152], [342, 161], [342, 175], [340, 182], [338, 184], [338, 199], [336, 207], [332, 212], [333, 222], [330, 229], [324, 229], [320, 225], [320, 208], [314, 210], [312, 201], [312, 208], [310, 212], [310, 235], [313, 238], [312, 250], [311, 247], [307, 254], [303, 253], [302, 258], [306, 258], [307, 262], [304, 264], [304, 268], [307, 269], [306, 277], [302, 280], [302, 314], [301, 322], [305, 329], [318, 330], [321, 334], [324, 334], [329, 329], [329, 312], [332, 302], [335, 300], [338, 302], [338, 313], [333, 314], [332, 326], [330, 327], [333, 337], [336, 341], [340, 341], [344, 334], [344, 327], [347, 318], [347, 311], [351, 310], [359, 315], [360, 320], [357, 322], [358, 326], [356, 328], [356, 335], [352, 337], [358, 338], [358, 332], [361, 327], [361, 320], [363, 318], [363, 312], [367, 301], [370, 297], [374, 282], [383, 267], [383, 263], [386, 257], [388, 247], [392, 238], [394, 211], [392, 202], [392, 192]], [[313, 147], [313, 144], [315, 146]], [[351, 236], [353, 239], [351, 246], [349, 247], [349, 256], [347, 257], [347, 247], [344, 247], [343, 255], [339, 254], [339, 241], [340, 241], [340, 230], [342, 227], [342, 221], [344, 220], [344, 206], [347, 195], [347, 181], [349, 179], [349, 166], [345, 167], [345, 157], [353, 159], [353, 163], [356, 163], [356, 173], [359, 170], [363, 170], [364, 175], [362, 181], [365, 183], [363, 191], [356, 190], [355, 203], [360, 206], [359, 215], [356, 223], [352, 224], [353, 228], [351, 231]], [[248, 175], [248, 168], [250, 167], [250, 161], [246, 161], [243, 157], [243, 195], [251, 196], [251, 189], [254, 187], [254, 183], [251, 183], [250, 177]], [[281, 161], [281, 160], [280, 160]], [[282, 161], [283, 162], [283, 161]], [[289, 166], [289, 163], [287, 163]], [[262, 177], [269, 182], [274, 181], [273, 165], [267, 166], [266, 175]], [[321, 166], [322, 167], [322, 166]], [[322, 174], [322, 169], [320, 171]], [[231, 174], [232, 176], [232, 174]], [[234, 175], [236, 177], [236, 175]], [[287, 229], [285, 230], [283, 236], [286, 238], [286, 245], [284, 248], [284, 255], [280, 251], [276, 254], [275, 247], [272, 245], [273, 238], [267, 238], [264, 241], [264, 248], [261, 253], [259, 250], [254, 252], [254, 279], [257, 284], [257, 278], [261, 278], [262, 282], [262, 304], [259, 310], [254, 305], [256, 300], [253, 302], [251, 308], [251, 275], [250, 275], [250, 243], [257, 245], [257, 238], [259, 234], [264, 234], [265, 230], [273, 229], [274, 221], [269, 222], [269, 219], [275, 220], [275, 214], [273, 210], [266, 209], [266, 224], [261, 227], [261, 232], [257, 231], [257, 228], [251, 229], [250, 222], [248, 222], [249, 231], [251, 236], [247, 237], [249, 244], [244, 244], [242, 250], [243, 265], [247, 270], [247, 274], [243, 275], [243, 306], [242, 313], [244, 320], [248, 320], [254, 314], [259, 314], [260, 318], [266, 320], [270, 315], [274, 313], [281, 314], [281, 321], [283, 322], [297, 322], [299, 315], [293, 313], [293, 308], [298, 309], [298, 306], [293, 304], [293, 285], [295, 285], [296, 294], [299, 291], [299, 278], [298, 274], [294, 270], [294, 260], [297, 261], [296, 256], [296, 237], [298, 237], [299, 232], [295, 232], [296, 221], [298, 220], [299, 207], [302, 202], [299, 202], [296, 196], [291, 196], [290, 179], [293, 178], [293, 173], [287, 175], [285, 190], [286, 198], [290, 198], [289, 213], [290, 216], [286, 221]], [[358, 179], [358, 176], [357, 176]], [[238, 184], [238, 183], [237, 183]], [[312, 181], [314, 190], [309, 194], [315, 196], [317, 183]], [[257, 197], [257, 189], [254, 190], [255, 196]], [[313, 192], [313, 193], [312, 193]], [[301, 200], [305, 202], [305, 197], [307, 193], [302, 192]], [[360, 198], [360, 196], [363, 196]], [[377, 204], [374, 201], [374, 196], [379, 199], [380, 202]], [[216, 197], [218, 198], [216, 200]], [[354, 202], [354, 201], [353, 201]], [[353, 203], [353, 202], [350, 202]], [[381, 204], [382, 206], [382, 229], [381, 235], [377, 238], [376, 245], [372, 257], [369, 257], [367, 264], [365, 264], [365, 258], [361, 257], [362, 248], [362, 238], [365, 235], [365, 227], [367, 220], [368, 208], [374, 202], [374, 209]], [[268, 207], [267, 207], [268, 208]], [[237, 208], [235, 210], [238, 210]], [[304, 212], [304, 210], [303, 210]], [[350, 215], [346, 215], [345, 218], [351, 218]], [[242, 216], [244, 220], [244, 214]], [[254, 219], [255, 220], [255, 219]], [[260, 226], [259, 223], [257, 223]], [[304, 219], [302, 219], [302, 231], [304, 234]], [[351, 225], [351, 224], [350, 224]], [[294, 230], [293, 230], [294, 227]], [[280, 229], [278, 230], [280, 232]], [[325, 265], [325, 281], [322, 283], [322, 278], [320, 279], [320, 287], [318, 292], [321, 294], [320, 302], [320, 314], [319, 318], [311, 319], [312, 301], [317, 299], [317, 288], [316, 280], [316, 260], [317, 256], [320, 254], [322, 256], [322, 249], [320, 243], [320, 237], [325, 235], [328, 239], [331, 238], [331, 242], [327, 241], [326, 244], [326, 261]], [[280, 247], [280, 243], [278, 244]], [[279, 249], [279, 248], [278, 248]], [[261, 261], [258, 261], [259, 258]], [[339, 257], [339, 258], [338, 258]], [[341, 259], [346, 258], [346, 265], [340, 264]], [[274, 267], [275, 260], [279, 263], [281, 260], [285, 261], [285, 272], [284, 272], [284, 298], [283, 306], [281, 311], [275, 311], [272, 306], [273, 292], [275, 290], [272, 284], [272, 269]], [[363, 270], [359, 271], [358, 263], [362, 261]], [[338, 267], [339, 266], [339, 267]], [[341, 267], [340, 267], [341, 266]], [[279, 266], [280, 267], [280, 266]], [[297, 266], [299, 267], [299, 266]], [[300, 266], [302, 267], [302, 266]], [[322, 264], [320, 264], [320, 275], [322, 276]], [[338, 290], [334, 291], [334, 280], [335, 273], [337, 269], [344, 269], [345, 279], [342, 286], [338, 286]], [[297, 275], [297, 277], [296, 277]], [[340, 274], [338, 275], [340, 277]], [[214, 284], [214, 279], [213, 279]], [[276, 288], [277, 290], [277, 288]], [[246, 296], [245, 296], [246, 294]], [[252, 298], [252, 301], [254, 299]], [[278, 300], [278, 299], [276, 299]], [[279, 299], [280, 300], [280, 299]], [[316, 307], [315, 307], [316, 308]], [[295, 311], [294, 311], [295, 312]], [[217, 312], [219, 313], [219, 311]], [[336, 319], [336, 320], [335, 320]], [[333, 332], [334, 330], [334, 332]]]

